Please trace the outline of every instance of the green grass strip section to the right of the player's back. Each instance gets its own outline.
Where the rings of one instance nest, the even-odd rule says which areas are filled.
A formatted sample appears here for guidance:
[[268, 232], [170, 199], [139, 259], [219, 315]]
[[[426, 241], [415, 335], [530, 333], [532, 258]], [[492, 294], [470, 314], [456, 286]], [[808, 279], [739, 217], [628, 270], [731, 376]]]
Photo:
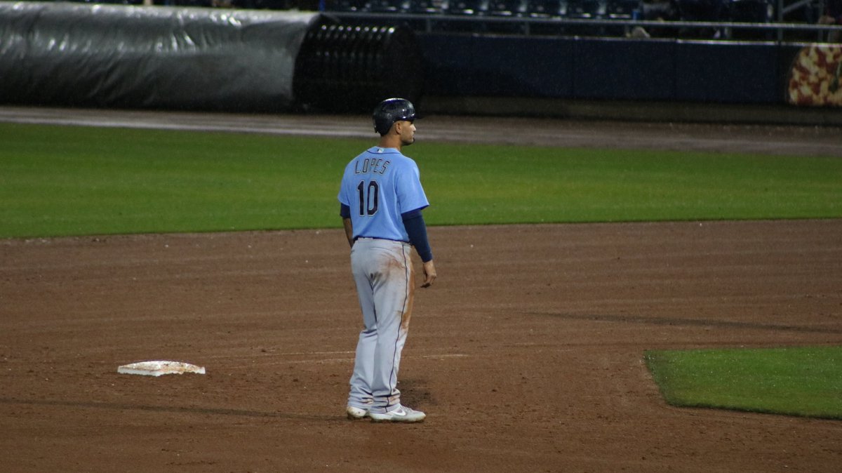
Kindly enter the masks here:
[[441, 224], [827, 218], [842, 160], [683, 151], [419, 145]]

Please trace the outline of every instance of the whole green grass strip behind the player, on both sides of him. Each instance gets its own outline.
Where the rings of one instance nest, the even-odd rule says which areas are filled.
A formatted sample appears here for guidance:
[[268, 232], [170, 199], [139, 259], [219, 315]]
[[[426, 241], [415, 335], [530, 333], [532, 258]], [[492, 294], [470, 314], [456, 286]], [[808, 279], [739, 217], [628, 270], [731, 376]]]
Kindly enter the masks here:
[[[374, 140], [0, 124], [0, 237], [339, 227]], [[424, 142], [430, 225], [842, 216], [842, 160]]]

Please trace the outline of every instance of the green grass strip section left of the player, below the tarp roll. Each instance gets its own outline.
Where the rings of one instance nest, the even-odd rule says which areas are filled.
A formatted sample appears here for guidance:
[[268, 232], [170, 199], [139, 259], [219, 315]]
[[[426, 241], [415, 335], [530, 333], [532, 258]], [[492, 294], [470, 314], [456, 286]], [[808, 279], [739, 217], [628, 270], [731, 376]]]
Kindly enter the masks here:
[[343, 141], [0, 124], [0, 237], [338, 221]]

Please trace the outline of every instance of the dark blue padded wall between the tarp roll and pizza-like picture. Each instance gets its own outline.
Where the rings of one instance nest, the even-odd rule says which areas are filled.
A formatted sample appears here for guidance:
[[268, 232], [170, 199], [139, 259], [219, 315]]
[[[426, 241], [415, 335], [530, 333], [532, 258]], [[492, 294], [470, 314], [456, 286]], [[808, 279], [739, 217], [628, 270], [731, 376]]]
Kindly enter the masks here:
[[428, 33], [426, 93], [785, 104], [802, 45]]

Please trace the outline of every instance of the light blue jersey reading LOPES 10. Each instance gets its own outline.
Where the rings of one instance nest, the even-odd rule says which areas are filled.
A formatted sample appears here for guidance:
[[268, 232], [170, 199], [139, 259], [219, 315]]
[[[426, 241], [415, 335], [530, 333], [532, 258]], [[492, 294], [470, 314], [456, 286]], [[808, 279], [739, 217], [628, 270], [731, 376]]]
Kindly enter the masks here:
[[354, 238], [398, 242], [409, 241], [401, 214], [429, 205], [415, 162], [395, 148], [380, 146], [348, 163], [338, 199], [350, 208]]

